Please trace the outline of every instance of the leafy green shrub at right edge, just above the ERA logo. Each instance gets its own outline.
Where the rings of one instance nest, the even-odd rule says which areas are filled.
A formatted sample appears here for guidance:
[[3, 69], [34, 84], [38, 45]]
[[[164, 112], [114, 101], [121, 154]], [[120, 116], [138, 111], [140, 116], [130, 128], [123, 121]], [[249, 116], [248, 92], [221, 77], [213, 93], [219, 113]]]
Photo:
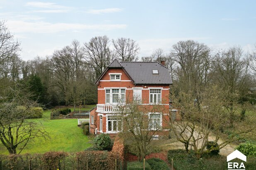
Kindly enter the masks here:
[[245, 142], [242, 144], [239, 144], [236, 147], [237, 150], [244, 153], [244, 155], [248, 157], [256, 157], [256, 144], [251, 142]]

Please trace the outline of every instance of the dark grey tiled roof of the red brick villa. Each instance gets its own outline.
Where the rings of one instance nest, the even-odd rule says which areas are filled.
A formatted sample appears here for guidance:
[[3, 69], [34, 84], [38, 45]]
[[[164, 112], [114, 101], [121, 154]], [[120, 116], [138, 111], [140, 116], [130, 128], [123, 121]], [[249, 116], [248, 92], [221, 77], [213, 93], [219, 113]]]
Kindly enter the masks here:
[[[171, 75], [166, 66], [158, 62], [142, 61], [112, 61], [106, 70], [99, 76], [96, 84], [109, 68], [122, 68], [127, 76], [137, 85], [170, 85]], [[158, 70], [158, 74], [153, 74], [153, 70]]]

